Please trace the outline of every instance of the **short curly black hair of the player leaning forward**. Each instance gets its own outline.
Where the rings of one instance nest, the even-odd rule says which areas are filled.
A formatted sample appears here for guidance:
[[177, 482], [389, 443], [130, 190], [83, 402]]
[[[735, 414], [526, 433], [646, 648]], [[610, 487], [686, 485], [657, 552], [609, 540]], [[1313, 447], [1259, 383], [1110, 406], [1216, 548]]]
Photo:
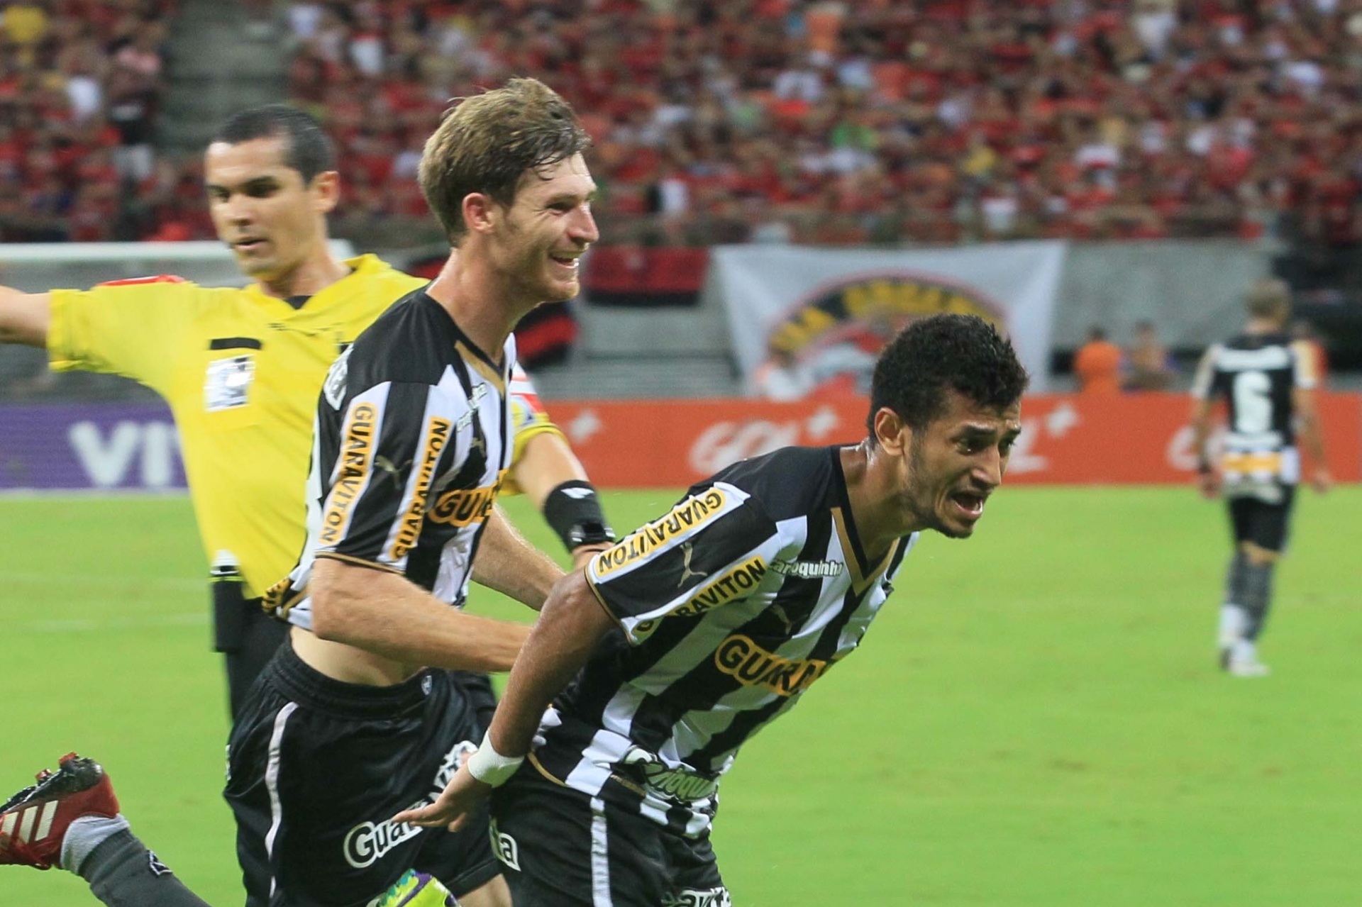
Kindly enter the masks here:
[[918, 430], [947, 407], [947, 389], [974, 403], [1004, 409], [1022, 399], [1027, 373], [1012, 343], [975, 315], [933, 315], [914, 321], [889, 340], [874, 364], [870, 415], [889, 407]]

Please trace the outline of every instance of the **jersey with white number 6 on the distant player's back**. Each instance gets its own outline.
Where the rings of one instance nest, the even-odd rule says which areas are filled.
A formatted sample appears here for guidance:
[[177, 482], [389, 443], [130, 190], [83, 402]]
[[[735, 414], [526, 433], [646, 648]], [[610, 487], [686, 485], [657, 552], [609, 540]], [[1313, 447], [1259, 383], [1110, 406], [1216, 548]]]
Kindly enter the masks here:
[[1316, 383], [1309, 346], [1286, 334], [1241, 334], [1205, 351], [1192, 394], [1229, 407], [1220, 456], [1229, 486], [1299, 481], [1293, 392]]

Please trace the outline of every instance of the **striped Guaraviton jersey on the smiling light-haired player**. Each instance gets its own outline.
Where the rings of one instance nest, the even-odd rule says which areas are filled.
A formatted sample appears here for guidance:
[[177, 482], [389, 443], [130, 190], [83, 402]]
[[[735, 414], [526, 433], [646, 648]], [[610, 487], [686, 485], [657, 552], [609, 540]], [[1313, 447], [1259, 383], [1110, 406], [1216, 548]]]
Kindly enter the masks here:
[[364, 331], [323, 384], [306, 546], [266, 607], [311, 629], [306, 590], [319, 557], [402, 573], [462, 605], [511, 464], [513, 364], [513, 336], [493, 362], [422, 290]]

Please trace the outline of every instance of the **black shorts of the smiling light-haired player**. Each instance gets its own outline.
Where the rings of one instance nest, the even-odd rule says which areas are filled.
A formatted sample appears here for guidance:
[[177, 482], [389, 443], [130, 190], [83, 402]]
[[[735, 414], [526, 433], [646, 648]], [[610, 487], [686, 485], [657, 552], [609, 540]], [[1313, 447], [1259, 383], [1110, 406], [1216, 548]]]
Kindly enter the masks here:
[[486, 810], [456, 833], [388, 821], [437, 795], [479, 739], [449, 671], [342, 684], [282, 646], [227, 746], [247, 906], [362, 906], [409, 869], [455, 895], [485, 885], [500, 873]]

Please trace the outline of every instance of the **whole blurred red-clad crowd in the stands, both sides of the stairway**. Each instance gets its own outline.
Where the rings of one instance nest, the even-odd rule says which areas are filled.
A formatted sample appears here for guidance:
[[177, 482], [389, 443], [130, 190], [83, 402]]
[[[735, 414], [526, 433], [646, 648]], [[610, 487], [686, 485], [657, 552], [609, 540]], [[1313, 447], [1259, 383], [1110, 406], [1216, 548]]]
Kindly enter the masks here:
[[[120, 60], [155, 57], [163, 20], [143, 18], [168, 7], [10, 4], [5, 20], [46, 8], [52, 25], [0, 63], [0, 219], [101, 238], [109, 218], [91, 208], [121, 177], [140, 191], [143, 236], [211, 236], [196, 165], [127, 151], [146, 121], [116, 116], [138, 79], [154, 110], [158, 67]], [[93, 10], [108, 29], [87, 25]], [[448, 98], [534, 74], [584, 112], [606, 241], [1362, 240], [1362, 0], [358, 0], [287, 14], [291, 98], [342, 151], [342, 229], [425, 218], [413, 177]]]

